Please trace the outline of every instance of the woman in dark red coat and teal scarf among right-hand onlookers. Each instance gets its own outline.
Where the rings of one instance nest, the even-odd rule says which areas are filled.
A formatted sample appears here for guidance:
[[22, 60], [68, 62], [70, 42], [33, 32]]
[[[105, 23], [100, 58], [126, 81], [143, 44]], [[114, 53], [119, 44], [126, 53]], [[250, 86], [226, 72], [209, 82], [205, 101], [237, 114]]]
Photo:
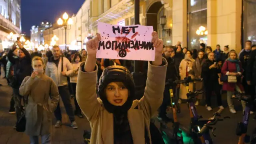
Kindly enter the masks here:
[[[235, 81], [226, 81], [223, 82], [223, 90], [227, 91], [227, 102], [229, 110], [232, 114], [236, 113], [236, 110], [234, 109], [233, 102], [231, 100], [233, 92], [236, 90], [238, 92], [244, 92], [244, 87], [242, 86], [242, 82], [240, 77], [242, 76], [242, 73], [244, 72], [242, 68], [241, 62], [237, 58], [237, 54], [234, 51], [230, 51], [228, 54], [228, 59], [224, 62], [221, 73], [223, 75], [228, 76], [236, 76], [236, 82]], [[241, 101], [243, 110], [245, 109], [245, 102]]]

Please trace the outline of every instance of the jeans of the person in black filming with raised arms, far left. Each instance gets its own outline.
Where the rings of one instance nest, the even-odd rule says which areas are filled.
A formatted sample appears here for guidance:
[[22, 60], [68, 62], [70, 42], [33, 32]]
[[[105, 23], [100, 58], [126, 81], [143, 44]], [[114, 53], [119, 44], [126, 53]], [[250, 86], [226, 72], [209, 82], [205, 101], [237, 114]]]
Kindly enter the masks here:
[[16, 111], [16, 118], [17, 118], [17, 122], [18, 120], [20, 120], [20, 117], [21, 117], [21, 100], [23, 99], [23, 104], [25, 105], [26, 104], [26, 100], [24, 98], [24, 96], [21, 96], [19, 94], [19, 89], [16, 89], [16, 88], [13, 88], [13, 99], [14, 99], [14, 102], [15, 102], [15, 111]]

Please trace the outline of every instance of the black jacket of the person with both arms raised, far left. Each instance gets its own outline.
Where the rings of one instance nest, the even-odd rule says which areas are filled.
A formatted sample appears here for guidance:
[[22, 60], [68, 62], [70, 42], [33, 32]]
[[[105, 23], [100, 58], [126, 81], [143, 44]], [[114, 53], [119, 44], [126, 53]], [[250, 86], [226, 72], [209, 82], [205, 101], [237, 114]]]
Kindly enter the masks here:
[[31, 56], [25, 48], [20, 49], [24, 52], [24, 58], [14, 58], [13, 50], [7, 54], [8, 60], [14, 65], [14, 77], [16, 79], [16, 86], [20, 87], [22, 81], [26, 76], [32, 73]]

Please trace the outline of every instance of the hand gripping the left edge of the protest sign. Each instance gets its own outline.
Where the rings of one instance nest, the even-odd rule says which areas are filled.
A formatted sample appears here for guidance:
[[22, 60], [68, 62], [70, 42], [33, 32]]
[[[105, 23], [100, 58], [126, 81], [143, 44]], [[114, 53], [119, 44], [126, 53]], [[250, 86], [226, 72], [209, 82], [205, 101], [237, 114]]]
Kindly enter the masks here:
[[99, 41], [101, 40], [100, 34], [96, 34], [96, 37], [88, 40], [86, 43], [86, 49], [88, 56], [96, 57], [97, 48], [99, 46]]

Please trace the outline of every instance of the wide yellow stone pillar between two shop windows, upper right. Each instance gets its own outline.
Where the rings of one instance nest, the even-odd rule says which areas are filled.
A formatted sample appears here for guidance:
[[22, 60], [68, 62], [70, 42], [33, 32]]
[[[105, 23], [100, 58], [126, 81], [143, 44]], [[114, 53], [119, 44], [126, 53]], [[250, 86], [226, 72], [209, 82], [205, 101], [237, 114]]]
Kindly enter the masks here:
[[216, 44], [220, 44], [222, 48], [224, 45], [229, 45], [230, 49], [240, 52], [242, 0], [233, 0], [232, 2], [229, 0], [216, 0], [216, 7]]

